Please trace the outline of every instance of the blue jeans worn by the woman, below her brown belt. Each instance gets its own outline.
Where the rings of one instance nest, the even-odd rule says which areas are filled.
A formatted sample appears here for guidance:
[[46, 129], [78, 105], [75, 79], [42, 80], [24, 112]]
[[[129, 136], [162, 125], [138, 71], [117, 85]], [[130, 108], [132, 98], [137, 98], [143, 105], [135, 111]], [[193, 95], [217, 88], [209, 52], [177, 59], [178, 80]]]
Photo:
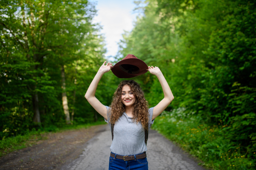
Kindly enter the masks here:
[[[136, 155], [140, 155], [140, 154], [142, 153], [139, 153]], [[134, 156], [136, 157], [136, 155]], [[116, 157], [116, 154], [115, 154], [115, 157]], [[124, 161], [124, 160], [116, 159], [110, 156], [108, 170], [148, 170], [148, 161], [147, 161], [147, 158]]]

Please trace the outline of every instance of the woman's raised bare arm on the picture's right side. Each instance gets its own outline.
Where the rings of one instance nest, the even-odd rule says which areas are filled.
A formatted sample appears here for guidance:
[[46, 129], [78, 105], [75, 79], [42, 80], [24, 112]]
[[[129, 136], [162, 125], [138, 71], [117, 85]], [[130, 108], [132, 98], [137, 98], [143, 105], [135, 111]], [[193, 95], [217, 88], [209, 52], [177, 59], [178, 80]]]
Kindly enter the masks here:
[[160, 71], [160, 69], [158, 67], [151, 66], [151, 67], [148, 67], [147, 70], [151, 74], [154, 74], [157, 76], [157, 78], [162, 86], [163, 94], [164, 94], [164, 98], [153, 109], [152, 120], [154, 120], [158, 115], [160, 115], [160, 113], [162, 113], [167, 108], [167, 106], [174, 99], [174, 96], [172, 94], [172, 91], [171, 91], [166, 79], [163, 76], [163, 73]]

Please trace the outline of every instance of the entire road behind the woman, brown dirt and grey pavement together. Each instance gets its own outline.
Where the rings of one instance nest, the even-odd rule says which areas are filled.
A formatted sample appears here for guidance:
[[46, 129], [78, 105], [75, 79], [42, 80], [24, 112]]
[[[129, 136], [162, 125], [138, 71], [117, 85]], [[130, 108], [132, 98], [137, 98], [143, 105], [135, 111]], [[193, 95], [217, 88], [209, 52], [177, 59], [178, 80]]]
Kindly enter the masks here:
[[[1, 170], [108, 170], [108, 125], [53, 133], [41, 143], [0, 158]], [[149, 170], [205, 170], [154, 130], [148, 137]]]

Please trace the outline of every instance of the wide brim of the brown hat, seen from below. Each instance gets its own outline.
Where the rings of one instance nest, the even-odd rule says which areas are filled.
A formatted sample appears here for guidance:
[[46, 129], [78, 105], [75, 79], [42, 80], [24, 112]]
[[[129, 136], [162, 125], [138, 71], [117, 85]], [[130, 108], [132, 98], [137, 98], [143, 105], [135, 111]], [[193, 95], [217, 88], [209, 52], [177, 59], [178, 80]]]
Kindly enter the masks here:
[[[122, 71], [122, 69], [119, 67], [119, 65], [122, 65], [122, 64], [135, 65], [138, 68], [140, 68], [140, 71], [137, 74], [126, 73], [125, 71]], [[141, 74], [145, 74], [147, 72], [146, 69], [148, 69], [148, 65], [146, 65], [146, 63], [144, 61], [142, 61], [141, 59], [130, 58], [130, 59], [123, 59], [123, 60], [117, 62], [114, 65], [114, 67], [111, 68], [111, 71], [118, 78], [132, 78], [132, 77], [139, 76]]]

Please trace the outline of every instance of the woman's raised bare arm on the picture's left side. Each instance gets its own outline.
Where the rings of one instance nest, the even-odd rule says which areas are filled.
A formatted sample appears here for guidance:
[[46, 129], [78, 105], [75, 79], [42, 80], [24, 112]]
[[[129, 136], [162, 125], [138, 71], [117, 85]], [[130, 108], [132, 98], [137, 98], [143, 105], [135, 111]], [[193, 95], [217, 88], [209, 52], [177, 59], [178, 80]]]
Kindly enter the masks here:
[[91, 82], [84, 97], [99, 114], [101, 114], [105, 119], [108, 119], [107, 108], [104, 105], [102, 105], [102, 103], [95, 97], [99, 80], [102, 78], [102, 75], [104, 73], [107, 73], [108, 71], [110, 71], [111, 67], [113, 67], [112, 63], [109, 63], [109, 62], [107, 65], [105, 65], [106, 62], [107, 61], [105, 61], [103, 65], [99, 68], [99, 71], [97, 72], [96, 76], [93, 78], [93, 81]]

